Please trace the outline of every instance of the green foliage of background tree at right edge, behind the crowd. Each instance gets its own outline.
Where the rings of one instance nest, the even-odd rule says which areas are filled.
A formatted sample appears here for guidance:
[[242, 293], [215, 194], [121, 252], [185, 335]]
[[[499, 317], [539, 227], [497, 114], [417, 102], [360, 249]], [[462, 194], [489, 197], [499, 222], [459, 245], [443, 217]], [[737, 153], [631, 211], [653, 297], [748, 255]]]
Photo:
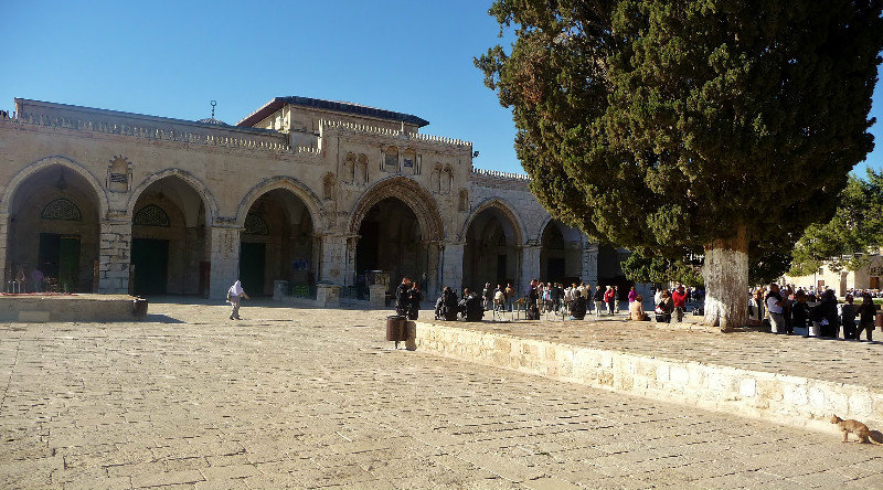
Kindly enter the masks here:
[[883, 247], [883, 172], [851, 177], [840, 192], [837, 211], [826, 223], [811, 224], [792, 253], [791, 276], [806, 276], [823, 263], [832, 270], [868, 264], [868, 253]]

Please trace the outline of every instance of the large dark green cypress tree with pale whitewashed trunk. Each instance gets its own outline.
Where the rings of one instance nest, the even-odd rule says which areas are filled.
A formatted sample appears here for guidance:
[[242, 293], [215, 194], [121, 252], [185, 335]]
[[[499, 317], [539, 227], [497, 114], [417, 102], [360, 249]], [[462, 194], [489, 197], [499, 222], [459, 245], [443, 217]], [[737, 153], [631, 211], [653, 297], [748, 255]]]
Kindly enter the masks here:
[[873, 149], [881, 3], [496, 0], [515, 42], [476, 65], [550, 213], [646, 256], [704, 254], [705, 322], [730, 329], [749, 254], [787, 255]]

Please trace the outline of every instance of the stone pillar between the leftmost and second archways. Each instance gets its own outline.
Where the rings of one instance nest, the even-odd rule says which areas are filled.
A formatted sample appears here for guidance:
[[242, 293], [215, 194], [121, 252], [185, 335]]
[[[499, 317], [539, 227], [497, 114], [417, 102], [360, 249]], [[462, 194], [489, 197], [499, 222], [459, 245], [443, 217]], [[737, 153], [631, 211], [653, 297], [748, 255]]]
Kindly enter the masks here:
[[125, 212], [109, 212], [102, 220], [98, 239], [98, 292], [129, 292], [131, 264], [131, 219]]

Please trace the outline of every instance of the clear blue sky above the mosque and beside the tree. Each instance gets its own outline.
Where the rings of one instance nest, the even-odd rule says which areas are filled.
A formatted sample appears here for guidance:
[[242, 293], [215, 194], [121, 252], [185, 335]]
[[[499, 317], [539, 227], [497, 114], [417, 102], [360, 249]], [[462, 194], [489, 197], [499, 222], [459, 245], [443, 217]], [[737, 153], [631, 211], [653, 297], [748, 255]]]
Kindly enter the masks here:
[[[472, 141], [477, 167], [522, 172], [511, 114], [472, 65], [500, 41], [489, 4], [0, 0], [0, 108], [23, 97], [200, 119], [215, 99], [234, 124], [277, 96], [348, 100], [423, 117], [423, 132]], [[872, 132], [881, 169], [883, 122]]]

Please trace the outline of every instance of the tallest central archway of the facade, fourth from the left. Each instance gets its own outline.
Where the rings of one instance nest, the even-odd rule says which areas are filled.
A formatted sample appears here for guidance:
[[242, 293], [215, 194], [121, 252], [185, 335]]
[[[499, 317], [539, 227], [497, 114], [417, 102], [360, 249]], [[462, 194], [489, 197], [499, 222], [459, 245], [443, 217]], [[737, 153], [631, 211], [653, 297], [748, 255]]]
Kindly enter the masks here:
[[390, 273], [391, 289], [407, 276], [427, 288], [429, 265], [427, 247], [414, 211], [398, 198], [374, 204], [359, 225], [355, 247], [357, 284], [365, 273]]

